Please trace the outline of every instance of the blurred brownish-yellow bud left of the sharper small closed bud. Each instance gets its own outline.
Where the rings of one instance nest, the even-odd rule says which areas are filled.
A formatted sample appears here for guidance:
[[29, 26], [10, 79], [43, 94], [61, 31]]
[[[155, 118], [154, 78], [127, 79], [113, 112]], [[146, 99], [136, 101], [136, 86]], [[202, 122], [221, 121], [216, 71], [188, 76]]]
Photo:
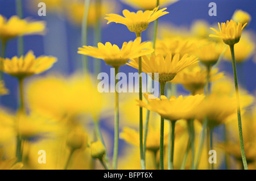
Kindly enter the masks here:
[[70, 149], [83, 149], [87, 146], [87, 134], [80, 128], [73, 128], [71, 133], [69, 133], [67, 145]]

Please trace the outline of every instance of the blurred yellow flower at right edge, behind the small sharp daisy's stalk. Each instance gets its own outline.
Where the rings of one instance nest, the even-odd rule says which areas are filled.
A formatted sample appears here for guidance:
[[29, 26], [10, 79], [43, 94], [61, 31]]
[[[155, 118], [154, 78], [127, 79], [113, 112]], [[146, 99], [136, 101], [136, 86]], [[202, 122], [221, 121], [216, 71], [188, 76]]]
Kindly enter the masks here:
[[[236, 62], [243, 62], [248, 60], [250, 56], [255, 52], [255, 43], [251, 39], [253, 35], [249, 32], [244, 32], [240, 41], [234, 47], [234, 54], [236, 55]], [[230, 50], [225, 51], [224, 57], [226, 60], [232, 61]]]

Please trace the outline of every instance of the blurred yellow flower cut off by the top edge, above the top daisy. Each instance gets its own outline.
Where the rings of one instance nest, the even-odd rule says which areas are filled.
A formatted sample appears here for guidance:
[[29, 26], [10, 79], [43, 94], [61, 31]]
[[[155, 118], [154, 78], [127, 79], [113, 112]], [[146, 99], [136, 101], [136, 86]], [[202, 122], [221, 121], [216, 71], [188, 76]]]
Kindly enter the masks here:
[[[127, 5], [130, 5], [137, 9], [144, 9], [144, 10], [152, 10], [156, 6], [155, 0], [122, 0]], [[160, 6], [169, 6], [172, 3], [175, 3], [179, 0], [160, 0], [159, 5]]]

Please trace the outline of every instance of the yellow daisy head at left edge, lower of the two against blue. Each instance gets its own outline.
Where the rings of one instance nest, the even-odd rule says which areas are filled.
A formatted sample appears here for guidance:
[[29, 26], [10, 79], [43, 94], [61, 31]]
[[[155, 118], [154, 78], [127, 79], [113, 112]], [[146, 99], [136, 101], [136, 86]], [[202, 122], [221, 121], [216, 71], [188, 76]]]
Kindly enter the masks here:
[[23, 57], [2, 59], [2, 71], [17, 78], [25, 78], [48, 70], [57, 61], [56, 57], [35, 57], [31, 50]]

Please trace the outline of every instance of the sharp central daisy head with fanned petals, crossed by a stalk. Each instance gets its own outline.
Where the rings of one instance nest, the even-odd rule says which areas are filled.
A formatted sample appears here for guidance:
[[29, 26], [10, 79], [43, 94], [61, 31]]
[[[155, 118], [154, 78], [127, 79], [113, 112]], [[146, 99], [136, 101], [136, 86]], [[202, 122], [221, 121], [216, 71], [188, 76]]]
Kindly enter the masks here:
[[[159, 82], [171, 81], [177, 73], [196, 62], [198, 62], [197, 58], [195, 56], [188, 57], [188, 54], [185, 54], [181, 58], [179, 54], [172, 56], [171, 53], [168, 53], [166, 57], [161, 54], [158, 54], [157, 56], [151, 54], [150, 57], [142, 56], [142, 71], [146, 74], [152, 73], [152, 79], [154, 80], [156, 80], [154, 73], [159, 73]], [[129, 61], [127, 65], [139, 69], [138, 58]]]

